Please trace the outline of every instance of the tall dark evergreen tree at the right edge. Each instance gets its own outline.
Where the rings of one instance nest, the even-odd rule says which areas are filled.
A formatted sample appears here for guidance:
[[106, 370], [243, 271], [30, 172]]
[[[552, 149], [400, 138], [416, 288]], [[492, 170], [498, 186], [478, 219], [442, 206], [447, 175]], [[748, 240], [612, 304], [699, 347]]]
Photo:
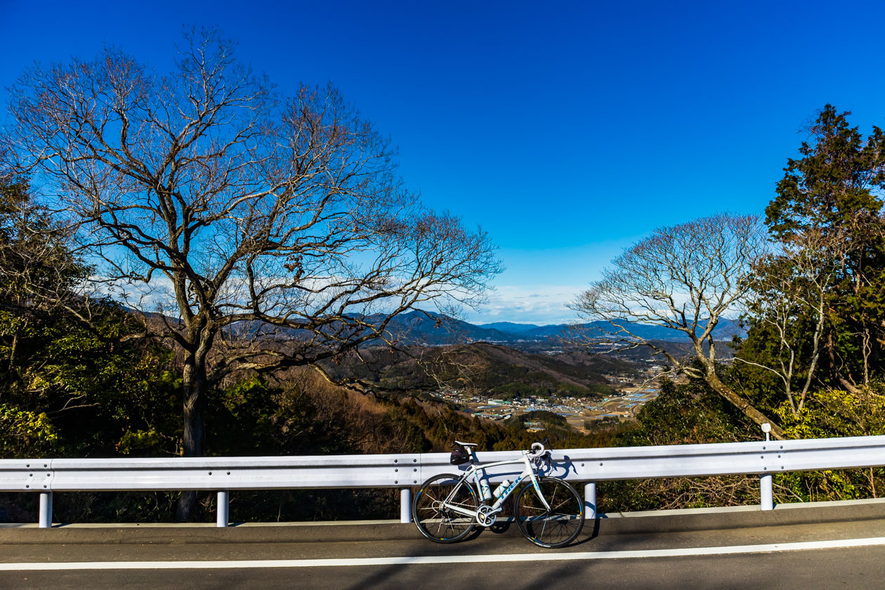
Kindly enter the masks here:
[[[799, 149], [802, 157], [790, 158], [784, 168], [766, 223], [788, 248], [809, 236], [843, 245], [824, 302], [822, 379], [857, 393], [885, 368], [885, 232], [879, 198], [885, 188], [885, 134], [874, 126], [864, 137], [849, 125], [849, 115], [831, 104], [820, 111]], [[805, 313], [800, 320], [813, 325], [814, 315]], [[807, 356], [811, 349], [806, 349]]]

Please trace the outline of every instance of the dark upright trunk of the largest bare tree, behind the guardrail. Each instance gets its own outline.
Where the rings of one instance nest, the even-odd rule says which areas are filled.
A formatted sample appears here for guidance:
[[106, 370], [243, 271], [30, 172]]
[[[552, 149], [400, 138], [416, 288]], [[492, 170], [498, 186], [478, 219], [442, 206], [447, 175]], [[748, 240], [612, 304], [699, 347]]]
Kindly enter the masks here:
[[[205, 431], [203, 407], [209, 387], [206, 379], [206, 366], [193, 357], [185, 359], [184, 365], [184, 435], [181, 441], [181, 456], [203, 456], [205, 452]], [[196, 492], [181, 492], [175, 506], [175, 522], [189, 522], [196, 509]]]

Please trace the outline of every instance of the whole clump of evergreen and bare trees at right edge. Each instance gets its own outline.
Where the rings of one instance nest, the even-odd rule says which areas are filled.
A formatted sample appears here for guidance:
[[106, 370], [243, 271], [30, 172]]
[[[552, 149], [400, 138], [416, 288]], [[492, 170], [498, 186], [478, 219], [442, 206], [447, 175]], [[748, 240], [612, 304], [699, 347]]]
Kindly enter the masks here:
[[885, 135], [864, 137], [849, 115], [827, 104], [788, 160], [766, 208], [778, 248], [758, 267], [730, 374], [790, 436], [854, 432], [834, 426], [824, 400], [874, 413], [885, 376]]

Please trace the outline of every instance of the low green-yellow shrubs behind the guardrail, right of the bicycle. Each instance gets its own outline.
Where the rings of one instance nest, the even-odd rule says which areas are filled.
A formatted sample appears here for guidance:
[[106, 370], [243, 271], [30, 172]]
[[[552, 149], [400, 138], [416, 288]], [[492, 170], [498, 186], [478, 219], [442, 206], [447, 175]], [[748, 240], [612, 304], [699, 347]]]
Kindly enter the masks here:
[[[795, 418], [788, 404], [779, 418], [789, 438], [885, 434], [885, 395], [815, 391]], [[762, 433], [703, 381], [665, 382], [658, 398], [639, 412], [635, 425], [619, 433], [619, 446], [758, 441]], [[881, 495], [885, 469], [777, 473], [774, 501], [854, 500]], [[735, 506], [759, 502], [758, 476], [664, 478], [604, 482], [599, 486], [603, 511], [663, 510]]]

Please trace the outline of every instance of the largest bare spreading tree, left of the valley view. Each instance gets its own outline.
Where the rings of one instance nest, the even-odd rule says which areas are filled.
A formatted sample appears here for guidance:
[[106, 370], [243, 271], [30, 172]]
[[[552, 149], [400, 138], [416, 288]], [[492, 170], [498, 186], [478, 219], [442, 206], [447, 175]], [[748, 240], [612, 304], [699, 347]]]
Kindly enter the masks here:
[[391, 318], [481, 300], [486, 234], [422, 208], [389, 141], [332, 87], [278, 96], [213, 31], [159, 77], [118, 50], [35, 66], [4, 147], [81, 219], [83, 246], [145, 335], [184, 351], [183, 454], [230, 372], [319, 364]]

